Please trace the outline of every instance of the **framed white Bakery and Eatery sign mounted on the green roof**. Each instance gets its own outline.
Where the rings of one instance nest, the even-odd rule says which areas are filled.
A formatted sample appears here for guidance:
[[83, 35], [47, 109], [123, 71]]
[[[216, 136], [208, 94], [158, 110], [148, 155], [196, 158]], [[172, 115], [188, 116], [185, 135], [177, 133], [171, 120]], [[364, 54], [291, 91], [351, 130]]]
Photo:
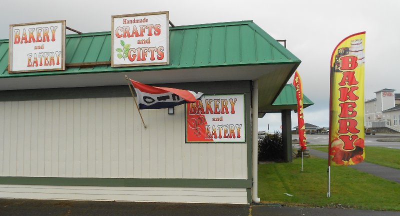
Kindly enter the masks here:
[[65, 20], [9, 25], [8, 72], [65, 69]]

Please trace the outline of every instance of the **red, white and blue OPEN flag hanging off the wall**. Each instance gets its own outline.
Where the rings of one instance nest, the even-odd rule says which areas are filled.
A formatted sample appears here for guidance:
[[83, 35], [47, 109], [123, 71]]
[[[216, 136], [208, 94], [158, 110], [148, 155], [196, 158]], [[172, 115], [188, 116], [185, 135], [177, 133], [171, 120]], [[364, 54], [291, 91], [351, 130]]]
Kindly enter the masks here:
[[195, 102], [203, 93], [169, 87], [155, 87], [129, 79], [136, 91], [139, 109], [169, 108]]

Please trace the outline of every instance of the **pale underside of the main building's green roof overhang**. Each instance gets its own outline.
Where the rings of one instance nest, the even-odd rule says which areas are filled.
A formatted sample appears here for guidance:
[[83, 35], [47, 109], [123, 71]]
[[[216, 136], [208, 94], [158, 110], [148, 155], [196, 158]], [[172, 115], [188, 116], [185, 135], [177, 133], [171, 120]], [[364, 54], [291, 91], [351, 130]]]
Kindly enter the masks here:
[[[297, 66], [298, 63], [295, 62], [291, 64], [19, 76], [0, 78], [0, 90], [123, 85], [126, 84], [125, 75], [147, 84], [258, 79], [258, 110], [264, 112], [270, 109], [274, 98]], [[190, 90], [195, 91], [196, 89]]]

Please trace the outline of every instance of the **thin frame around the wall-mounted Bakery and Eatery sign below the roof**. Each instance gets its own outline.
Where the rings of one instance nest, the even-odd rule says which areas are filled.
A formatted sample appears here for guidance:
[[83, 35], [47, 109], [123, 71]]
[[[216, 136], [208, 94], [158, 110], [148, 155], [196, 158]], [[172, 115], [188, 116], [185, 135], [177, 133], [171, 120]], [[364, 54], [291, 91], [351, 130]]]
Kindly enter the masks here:
[[[246, 93], [218, 93], [218, 94], [203, 94], [203, 96], [217, 96], [217, 95], [239, 95], [243, 97], [243, 126], [242, 131], [244, 132], [243, 141], [187, 141], [187, 105], [189, 103], [184, 104], [184, 142], [185, 143], [247, 143], [247, 120], [246, 120]], [[200, 99], [203, 97], [201, 96]]]

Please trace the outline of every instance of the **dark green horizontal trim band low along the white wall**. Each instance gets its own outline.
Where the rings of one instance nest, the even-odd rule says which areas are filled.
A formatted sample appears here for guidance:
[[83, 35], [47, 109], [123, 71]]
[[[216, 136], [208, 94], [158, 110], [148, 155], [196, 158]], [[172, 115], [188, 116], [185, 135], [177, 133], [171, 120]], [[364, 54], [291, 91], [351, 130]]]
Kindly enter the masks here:
[[62, 185], [62, 186], [250, 188], [251, 179], [0, 176], [0, 184]]

